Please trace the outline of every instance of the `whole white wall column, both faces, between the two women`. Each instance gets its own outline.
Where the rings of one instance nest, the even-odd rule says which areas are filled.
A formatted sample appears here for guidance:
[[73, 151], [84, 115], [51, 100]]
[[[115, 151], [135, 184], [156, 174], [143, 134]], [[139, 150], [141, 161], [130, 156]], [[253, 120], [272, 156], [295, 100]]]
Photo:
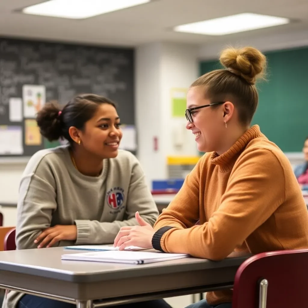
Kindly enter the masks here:
[[[167, 176], [166, 157], [195, 156], [193, 135], [185, 130], [185, 117], [172, 118], [171, 89], [188, 88], [198, 77], [198, 47], [175, 43], [150, 43], [136, 50], [136, 125], [138, 158], [148, 185]], [[183, 145], [174, 147], [174, 132]], [[158, 138], [158, 151], [153, 138]]]

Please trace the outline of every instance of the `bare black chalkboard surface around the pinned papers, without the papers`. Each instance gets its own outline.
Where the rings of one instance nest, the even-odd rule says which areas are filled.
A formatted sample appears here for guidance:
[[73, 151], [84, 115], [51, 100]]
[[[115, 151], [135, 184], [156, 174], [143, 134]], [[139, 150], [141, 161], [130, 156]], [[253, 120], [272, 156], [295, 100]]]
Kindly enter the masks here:
[[0, 38], [0, 125], [21, 126], [23, 136], [23, 154], [2, 157], [31, 156], [50, 146], [46, 140], [26, 145], [26, 119], [10, 121], [10, 98], [22, 98], [24, 85], [45, 86], [46, 101], [61, 104], [81, 93], [106, 96], [118, 104], [122, 123], [135, 124], [134, 49]]

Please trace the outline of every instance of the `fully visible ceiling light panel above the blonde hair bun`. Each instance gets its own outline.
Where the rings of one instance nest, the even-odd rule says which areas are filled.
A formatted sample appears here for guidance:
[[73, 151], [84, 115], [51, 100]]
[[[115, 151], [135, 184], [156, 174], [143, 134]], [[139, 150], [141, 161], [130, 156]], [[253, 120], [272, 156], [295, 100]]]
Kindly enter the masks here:
[[288, 18], [253, 13], [236, 14], [176, 26], [175, 31], [206, 35], [225, 35], [289, 23]]

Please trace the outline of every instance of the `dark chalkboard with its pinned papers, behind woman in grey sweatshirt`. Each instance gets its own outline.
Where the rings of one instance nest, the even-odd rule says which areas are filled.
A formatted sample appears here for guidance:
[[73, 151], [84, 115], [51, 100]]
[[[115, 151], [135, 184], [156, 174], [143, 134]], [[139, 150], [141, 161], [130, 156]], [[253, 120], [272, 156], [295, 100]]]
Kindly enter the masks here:
[[134, 49], [0, 38], [0, 158], [59, 145], [40, 135], [36, 113], [82, 93], [115, 101], [124, 127], [134, 130]]

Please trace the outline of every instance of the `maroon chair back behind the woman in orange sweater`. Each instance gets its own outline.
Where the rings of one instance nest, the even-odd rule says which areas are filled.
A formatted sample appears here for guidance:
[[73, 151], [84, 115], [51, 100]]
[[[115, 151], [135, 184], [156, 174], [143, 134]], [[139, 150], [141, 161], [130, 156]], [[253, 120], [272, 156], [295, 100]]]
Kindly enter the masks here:
[[306, 307], [307, 261], [308, 249], [250, 257], [235, 275], [232, 308]]

